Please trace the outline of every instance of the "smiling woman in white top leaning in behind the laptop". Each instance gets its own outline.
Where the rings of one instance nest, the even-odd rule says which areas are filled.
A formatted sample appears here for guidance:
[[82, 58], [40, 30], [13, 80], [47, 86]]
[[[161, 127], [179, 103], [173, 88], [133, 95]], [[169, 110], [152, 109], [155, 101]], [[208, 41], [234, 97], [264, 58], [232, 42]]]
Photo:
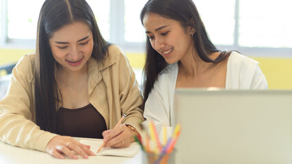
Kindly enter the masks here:
[[152, 120], [160, 136], [163, 126], [168, 128], [168, 134], [174, 126], [172, 111], [177, 87], [267, 89], [257, 61], [214, 46], [193, 1], [149, 0], [140, 18], [148, 36], [143, 124]]

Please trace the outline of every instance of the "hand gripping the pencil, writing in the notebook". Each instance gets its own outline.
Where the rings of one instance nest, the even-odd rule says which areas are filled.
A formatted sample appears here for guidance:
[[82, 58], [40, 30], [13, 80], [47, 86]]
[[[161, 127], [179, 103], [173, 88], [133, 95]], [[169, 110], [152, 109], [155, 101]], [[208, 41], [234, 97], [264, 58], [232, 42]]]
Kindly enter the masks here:
[[103, 142], [105, 148], [127, 148], [134, 139], [135, 131], [124, 124], [120, 124], [116, 128], [103, 132]]

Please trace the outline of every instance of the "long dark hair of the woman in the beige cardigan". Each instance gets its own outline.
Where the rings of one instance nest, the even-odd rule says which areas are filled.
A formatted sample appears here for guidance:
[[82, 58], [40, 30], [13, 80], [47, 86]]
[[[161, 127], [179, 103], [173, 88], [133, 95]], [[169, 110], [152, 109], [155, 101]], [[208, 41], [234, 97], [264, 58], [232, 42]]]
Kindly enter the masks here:
[[[49, 38], [65, 25], [81, 21], [92, 31], [94, 46], [92, 57], [99, 62], [105, 59], [107, 43], [101, 36], [94, 13], [85, 0], [46, 0], [38, 18], [36, 40], [36, 124], [44, 131], [56, 132], [56, 113], [62, 102], [55, 80], [56, 61], [53, 58]], [[62, 96], [61, 96], [62, 97]]]

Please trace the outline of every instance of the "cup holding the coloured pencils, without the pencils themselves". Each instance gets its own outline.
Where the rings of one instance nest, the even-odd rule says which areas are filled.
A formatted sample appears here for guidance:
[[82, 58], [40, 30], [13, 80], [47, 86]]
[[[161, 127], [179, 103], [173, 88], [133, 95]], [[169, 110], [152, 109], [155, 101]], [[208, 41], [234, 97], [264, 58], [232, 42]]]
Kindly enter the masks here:
[[174, 164], [175, 153], [175, 149], [165, 154], [143, 151], [143, 164]]

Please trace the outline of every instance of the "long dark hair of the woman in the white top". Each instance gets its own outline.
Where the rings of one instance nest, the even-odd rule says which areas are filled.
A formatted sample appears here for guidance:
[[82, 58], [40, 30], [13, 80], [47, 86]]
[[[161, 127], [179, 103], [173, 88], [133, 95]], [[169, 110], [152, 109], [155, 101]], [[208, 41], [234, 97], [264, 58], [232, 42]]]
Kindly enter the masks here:
[[[196, 5], [191, 0], [149, 0], [140, 14], [142, 24], [144, 16], [148, 13], [155, 13], [165, 18], [177, 20], [184, 28], [187, 26], [194, 27], [196, 29], [193, 36], [194, 47], [196, 47], [199, 57], [205, 62], [218, 63], [224, 61], [231, 53], [230, 51], [220, 51], [214, 46], [209, 39]], [[220, 52], [220, 55], [213, 60], [209, 55], [215, 52]], [[143, 70], [144, 102], [146, 102], [159, 72], [166, 66], [168, 64], [165, 59], [152, 48], [150, 41], [147, 39], [146, 63]]]

